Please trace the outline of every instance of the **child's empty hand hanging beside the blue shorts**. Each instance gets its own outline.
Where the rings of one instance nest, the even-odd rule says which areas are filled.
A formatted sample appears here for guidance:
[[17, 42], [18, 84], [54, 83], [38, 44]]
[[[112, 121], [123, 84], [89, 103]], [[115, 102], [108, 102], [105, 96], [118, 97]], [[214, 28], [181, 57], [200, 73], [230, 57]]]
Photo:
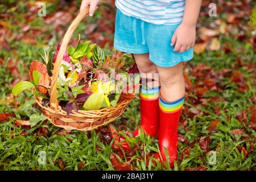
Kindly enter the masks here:
[[184, 52], [195, 45], [196, 26], [181, 23], [172, 36], [171, 46], [175, 52]]

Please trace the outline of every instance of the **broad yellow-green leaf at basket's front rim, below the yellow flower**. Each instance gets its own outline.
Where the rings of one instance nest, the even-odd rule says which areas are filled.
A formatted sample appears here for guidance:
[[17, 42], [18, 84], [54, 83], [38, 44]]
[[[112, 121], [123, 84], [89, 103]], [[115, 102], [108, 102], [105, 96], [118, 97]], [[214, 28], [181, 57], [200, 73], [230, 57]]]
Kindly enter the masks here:
[[101, 94], [99, 92], [93, 93], [85, 101], [84, 109], [85, 110], [100, 109], [103, 102], [104, 102], [104, 94]]

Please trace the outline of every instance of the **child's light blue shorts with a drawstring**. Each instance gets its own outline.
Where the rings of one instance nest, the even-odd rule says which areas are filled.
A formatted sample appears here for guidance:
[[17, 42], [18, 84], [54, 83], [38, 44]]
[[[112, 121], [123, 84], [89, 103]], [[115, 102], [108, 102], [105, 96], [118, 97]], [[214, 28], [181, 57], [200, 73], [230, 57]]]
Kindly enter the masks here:
[[193, 48], [174, 52], [171, 38], [176, 25], [157, 25], [127, 16], [117, 9], [114, 48], [127, 53], [149, 53], [150, 60], [159, 67], [173, 67], [193, 57]]

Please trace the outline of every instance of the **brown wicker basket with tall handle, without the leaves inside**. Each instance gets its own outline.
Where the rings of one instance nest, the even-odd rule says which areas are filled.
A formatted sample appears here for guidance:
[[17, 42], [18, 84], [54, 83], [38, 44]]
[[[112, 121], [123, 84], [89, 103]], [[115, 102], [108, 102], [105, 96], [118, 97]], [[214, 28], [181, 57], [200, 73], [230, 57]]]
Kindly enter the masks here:
[[[102, 4], [104, 2], [100, 2]], [[57, 101], [57, 78], [59, 76], [60, 62], [63, 57], [65, 50], [67, 49], [69, 40], [73, 32], [75, 31], [78, 24], [89, 12], [89, 7], [86, 7], [84, 11], [81, 11], [73, 20], [69, 26], [67, 32], [64, 35], [63, 41], [60, 46], [59, 53], [53, 68], [53, 76], [50, 89], [50, 103], [49, 106], [44, 106], [42, 104], [42, 98], [36, 97], [36, 102], [40, 107], [42, 107], [43, 114], [47, 119], [55, 126], [61, 127], [67, 130], [92, 130], [99, 126], [106, 125], [109, 122], [114, 121], [118, 118], [123, 111], [125, 111], [127, 105], [133, 98], [135, 94], [122, 93], [117, 105], [112, 107], [105, 107], [104, 109], [98, 110], [79, 110], [78, 112], [72, 111], [72, 113], [67, 116], [65, 110], [59, 106]]]

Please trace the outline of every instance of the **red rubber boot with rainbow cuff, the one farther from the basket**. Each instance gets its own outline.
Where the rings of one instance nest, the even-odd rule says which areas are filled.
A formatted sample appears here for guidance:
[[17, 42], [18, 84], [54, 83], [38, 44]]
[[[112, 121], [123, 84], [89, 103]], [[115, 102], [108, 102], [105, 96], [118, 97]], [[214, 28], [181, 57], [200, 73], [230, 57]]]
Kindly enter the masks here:
[[[159, 150], [163, 161], [166, 161], [167, 154], [165, 154], [164, 148], [167, 148], [170, 167], [174, 167], [174, 161], [177, 160], [177, 128], [179, 126], [184, 99], [185, 94], [182, 98], [174, 102], [166, 102], [162, 98], [159, 98]], [[160, 156], [159, 159], [161, 160]]]

